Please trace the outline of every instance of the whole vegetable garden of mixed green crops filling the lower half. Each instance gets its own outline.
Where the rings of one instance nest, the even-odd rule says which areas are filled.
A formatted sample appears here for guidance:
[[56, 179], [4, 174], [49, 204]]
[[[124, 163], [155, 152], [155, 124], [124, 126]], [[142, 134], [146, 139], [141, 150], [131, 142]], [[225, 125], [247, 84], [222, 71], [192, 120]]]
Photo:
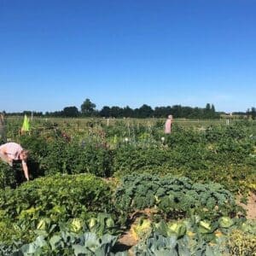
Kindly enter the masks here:
[[0, 163], [0, 255], [255, 255], [252, 123], [32, 127], [32, 180]]

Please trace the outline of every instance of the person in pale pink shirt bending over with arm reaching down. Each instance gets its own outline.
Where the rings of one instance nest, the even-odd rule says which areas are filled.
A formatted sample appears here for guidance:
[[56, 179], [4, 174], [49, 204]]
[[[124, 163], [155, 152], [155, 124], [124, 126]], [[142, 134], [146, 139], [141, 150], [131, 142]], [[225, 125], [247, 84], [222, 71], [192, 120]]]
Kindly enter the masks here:
[[26, 180], [29, 180], [28, 169], [26, 166], [26, 160], [28, 157], [28, 151], [23, 149], [18, 143], [5, 143], [0, 146], [0, 158], [13, 166], [14, 160], [21, 160], [22, 169]]

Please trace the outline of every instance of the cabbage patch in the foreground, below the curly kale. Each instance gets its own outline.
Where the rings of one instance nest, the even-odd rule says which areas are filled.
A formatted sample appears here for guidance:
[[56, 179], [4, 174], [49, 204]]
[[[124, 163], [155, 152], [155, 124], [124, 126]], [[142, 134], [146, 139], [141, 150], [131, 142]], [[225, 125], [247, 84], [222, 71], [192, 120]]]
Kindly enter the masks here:
[[[229, 227], [224, 235], [221, 229], [223, 218], [219, 223], [201, 220], [199, 216], [166, 223], [161, 220], [153, 224], [149, 236], [144, 236], [132, 251], [135, 255], [230, 255], [230, 234], [238, 228]], [[225, 221], [231, 221], [226, 218]], [[232, 220], [233, 224], [239, 220]], [[232, 254], [233, 255], [233, 254]], [[236, 255], [241, 255], [236, 253]]]

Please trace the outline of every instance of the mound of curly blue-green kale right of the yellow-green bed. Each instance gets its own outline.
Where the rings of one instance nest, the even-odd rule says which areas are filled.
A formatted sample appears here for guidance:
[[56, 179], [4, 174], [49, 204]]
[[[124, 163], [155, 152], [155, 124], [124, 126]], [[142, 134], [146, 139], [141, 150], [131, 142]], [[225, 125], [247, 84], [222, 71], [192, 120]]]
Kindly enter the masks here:
[[123, 213], [156, 207], [166, 218], [189, 216], [216, 219], [236, 213], [233, 195], [218, 183], [193, 183], [186, 177], [133, 174], [123, 177], [115, 193], [116, 207]]

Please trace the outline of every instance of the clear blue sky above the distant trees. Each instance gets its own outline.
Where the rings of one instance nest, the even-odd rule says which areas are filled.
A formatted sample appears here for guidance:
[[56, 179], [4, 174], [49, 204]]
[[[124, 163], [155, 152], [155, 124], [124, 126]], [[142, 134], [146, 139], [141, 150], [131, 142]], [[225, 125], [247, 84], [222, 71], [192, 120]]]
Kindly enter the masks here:
[[0, 0], [0, 111], [256, 106], [255, 0]]

